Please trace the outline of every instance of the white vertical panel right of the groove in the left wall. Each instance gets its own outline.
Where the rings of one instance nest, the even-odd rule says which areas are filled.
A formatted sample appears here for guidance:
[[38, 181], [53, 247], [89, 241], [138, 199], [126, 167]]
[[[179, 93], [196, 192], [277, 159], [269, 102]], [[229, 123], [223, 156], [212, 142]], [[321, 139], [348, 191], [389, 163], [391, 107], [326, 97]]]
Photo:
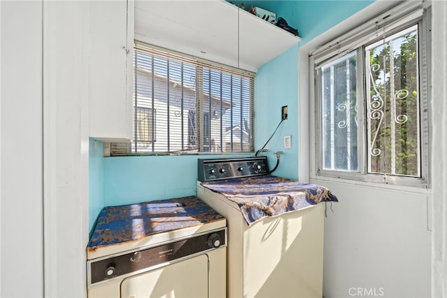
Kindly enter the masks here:
[[45, 296], [85, 297], [88, 1], [44, 1]]

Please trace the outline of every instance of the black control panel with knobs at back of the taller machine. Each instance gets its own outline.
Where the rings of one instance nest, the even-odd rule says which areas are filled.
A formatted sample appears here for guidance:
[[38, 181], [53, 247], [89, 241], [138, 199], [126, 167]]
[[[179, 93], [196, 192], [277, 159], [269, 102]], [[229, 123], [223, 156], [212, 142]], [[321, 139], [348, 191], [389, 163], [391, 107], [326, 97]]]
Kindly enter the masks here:
[[267, 157], [198, 159], [200, 182], [265, 175], [269, 173]]

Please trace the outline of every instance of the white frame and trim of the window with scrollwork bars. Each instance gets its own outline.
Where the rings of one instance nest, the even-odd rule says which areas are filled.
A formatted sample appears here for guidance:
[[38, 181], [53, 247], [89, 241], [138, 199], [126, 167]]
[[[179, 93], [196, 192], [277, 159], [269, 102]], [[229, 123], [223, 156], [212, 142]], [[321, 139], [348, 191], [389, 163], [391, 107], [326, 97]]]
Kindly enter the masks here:
[[[321, 141], [318, 141], [319, 137], [321, 136], [321, 127], [319, 124], [319, 104], [320, 102], [316, 100], [317, 94], [315, 94], [315, 87], [314, 82], [316, 82], [315, 78], [315, 72], [314, 72], [314, 64], [318, 62], [323, 62], [325, 59], [328, 59], [329, 57], [334, 57], [333, 53], [334, 51], [339, 55], [345, 55], [348, 52], [351, 52], [355, 48], [357, 48], [360, 44], [365, 44], [368, 41], [373, 41], [378, 36], [376, 34], [376, 30], [379, 29], [379, 31], [383, 31], [383, 20], [385, 18], [388, 23], [385, 22], [385, 26], [387, 29], [391, 30], [398, 30], [402, 28], [402, 26], [408, 26], [412, 22], [416, 22], [416, 20], [422, 19], [421, 25], [420, 25], [420, 32], [425, 31], [423, 34], [420, 34], [420, 47], [423, 47], [427, 44], [431, 43], [430, 34], [427, 34], [427, 31], [430, 30], [431, 20], [430, 20], [430, 13], [427, 14], [427, 17], [423, 17], [423, 12], [427, 10], [427, 8], [430, 8], [431, 3], [430, 1], [410, 1], [410, 2], [404, 2], [398, 6], [395, 6], [393, 8], [388, 8], [388, 10], [385, 11], [385, 13], [381, 13], [377, 17], [373, 17], [371, 21], [366, 22], [358, 27], [355, 27], [356, 29], [353, 29], [351, 27], [351, 30], [347, 28], [344, 30], [345, 33], [340, 36], [339, 38], [335, 38], [330, 43], [325, 43], [325, 45], [320, 47], [314, 47], [312, 48], [310, 46], [307, 46], [303, 48], [303, 50], [300, 52], [300, 55], [303, 55], [305, 50], [309, 49], [309, 57], [308, 57], [308, 64], [309, 67], [309, 111], [312, 111], [310, 119], [309, 119], [309, 157], [311, 162], [309, 162], [309, 176], [311, 178], [316, 178], [318, 180], [337, 180], [337, 181], [344, 181], [346, 183], [366, 183], [366, 184], [372, 184], [372, 185], [401, 185], [402, 187], [406, 188], [409, 187], [409, 189], [413, 189], [414, 187], [420, 188], [420, 189], [427, 189], [430, 187], [430, 181], [428, 180], [428, 173], [430, 171], [429, 167], [429, 152], [430, 152], [430, 135], [428, 127], [430, 126], [430, 118], [428, 111], [429, 104], [430, 104], [430, 90], [427, 86], [427, 83], [423, 81], [423, 79], [431, 80], [430, 78], [430, 55], [431, 52], [428, 52], [426, 49], [421, 50], [420, 49], [420, 66], [421, 66], [421, 72], [424, 71], [425, 75], [421, 76], [420, 78], [420, 87], [421, 87], [421, 99], [420, 99], [420, 117], [421, 117], [421, 126], [420, 130], [422, 131], [421, 134], [421, 176], [419, 177], [402, 177], [402, 176], [391, 176], [391, 175], [383, 175], [383, 174], [376, 174], [376, 173], [366, 173], [366, 153], [365, 152], [359, 152], [359, 168], [360, 172], [348, 172], [348, 171], [329, 171], [329, 170], [320, 170], [320, 164], [321, 164]], [[365, 34], [365, 30], [367, 31], [367, 28], [374, 27], [374, 31], [367, 32], [366, 36], [362, 41], [356, 41], [355, 39], [358, 38], [358, 35], [363, 30]], [[358, 50], [358, 52], [361, 52], [362, 49]], [[361, 56], [362, 57], [362, 56]], [[304, 60], [304, 57], [302, 58]], [[358, 63], [364, 63], [363, 59], [358, 59]], [[301, 66], [302, 64], [300, 64]], [[423, 69], [422, 69], [423, 68]], [[302, 73], [300, 73], [302, 74]], [[361, 75], [359, 75], [361, 76]], [[302, 79], [300, 78], [300, 83], [302, 83]], [[360, 80], [359, 80], [360, 81]], [[364, 93], [364, 87], [362, 84], [358, 84], [358, 93], [362, 94]], [[425, 90], [423, 90], [425, 89]], [[305, 93], [302, 92], [302, 93]], [[363, 95], [362, 95], [363, 96]], [[425, 98], [423, 98], [425, 97]], [[360, 98], [360, 97], [359, 97]], [[425, 112], [424, 112], [425, 111]], [[358, 105], [358, 122], [362, 123], [362, 126], [365, 127], [365, 109], [363, 106]], [[365, 132], [361, 131], [359, 129], [359, 144], [362, 144], [361, 150], [366, 150], [366, 144], [365, 144]], [[360, 154], [362, 153], [362, 154]]]

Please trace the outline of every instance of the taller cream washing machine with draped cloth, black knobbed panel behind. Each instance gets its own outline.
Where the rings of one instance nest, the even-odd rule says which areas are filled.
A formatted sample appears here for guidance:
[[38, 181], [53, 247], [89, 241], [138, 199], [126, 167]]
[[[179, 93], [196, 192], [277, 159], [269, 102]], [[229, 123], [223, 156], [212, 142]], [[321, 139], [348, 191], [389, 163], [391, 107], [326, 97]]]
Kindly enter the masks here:
[[[325, 204], [249, 225], [235, 201], [203, 183], [216, 180], [221, 189], [235, 187], [235, 193], [256, 189], [247, 181], [269, 173], [267, 159], [202, 159], [198, 168], [198, 197], [227, 219], [228, 297], [321, 298]], [[238, 180], [236, 186], [231, 178]]]

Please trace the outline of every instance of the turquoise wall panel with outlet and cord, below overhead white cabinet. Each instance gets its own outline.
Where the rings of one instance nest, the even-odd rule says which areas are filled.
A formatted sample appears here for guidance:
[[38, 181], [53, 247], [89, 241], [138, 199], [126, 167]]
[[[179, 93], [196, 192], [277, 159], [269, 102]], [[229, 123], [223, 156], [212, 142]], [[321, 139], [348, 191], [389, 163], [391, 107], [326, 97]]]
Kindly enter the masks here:
[[[274, 152], [283, 151], [274, 175], [298, 179], [298, 46], [265, 64], [255, 76], [255, 149], [262, 148], [281, 121], [281, 106], [288, 106], [288, 119], [279, 126], [260, 155], [268, 157], [270, 169], [277, 162]], [[292, 147], [284, 150], [284, 135]], [[295, 137], [294, 137], [295, 136]]]

